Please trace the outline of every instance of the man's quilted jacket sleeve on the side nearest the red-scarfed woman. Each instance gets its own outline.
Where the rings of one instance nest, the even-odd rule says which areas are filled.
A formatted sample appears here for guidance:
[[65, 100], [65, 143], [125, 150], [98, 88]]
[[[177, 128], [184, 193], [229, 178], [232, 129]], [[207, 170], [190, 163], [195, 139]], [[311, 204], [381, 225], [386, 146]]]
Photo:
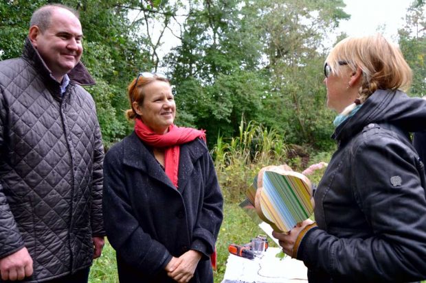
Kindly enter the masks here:
[[93, 184], [92, 184], [92, 205], [91, 205], [91, 229], [93, 236], [105, 236], [104, 222], [102, 219], [102, 186], [104, 147], [102, 145], [102, 135], [98, 120], [96, 119], [95, 129], [95, 151], [93, 158]]

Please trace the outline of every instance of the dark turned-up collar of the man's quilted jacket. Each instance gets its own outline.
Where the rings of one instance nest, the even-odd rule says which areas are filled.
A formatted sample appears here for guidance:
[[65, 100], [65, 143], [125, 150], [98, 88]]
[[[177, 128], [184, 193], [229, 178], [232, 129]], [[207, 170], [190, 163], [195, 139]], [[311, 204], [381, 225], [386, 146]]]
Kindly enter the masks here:
[[[44, 77], [47, 81], [54, 81], [56, 79], [52, 77], [52, 71], [49, 70], [47, 65], [45, 64], [43, 58], [41, 58], [38, 51], [34, 48], [29, 38], [25, 38], [25, 46], [22, 54], [24, 60], [30, 62], [32, 66]], [[89, 74], [86, 67], [82, 64], [82, 62], [78, 62], [78, 64], [69, 71], [67, 74], [69, 77], [69, 81], [73, 84], [79, 84], [80, 86], [91, 86], [96, 84], [95, 80]]]

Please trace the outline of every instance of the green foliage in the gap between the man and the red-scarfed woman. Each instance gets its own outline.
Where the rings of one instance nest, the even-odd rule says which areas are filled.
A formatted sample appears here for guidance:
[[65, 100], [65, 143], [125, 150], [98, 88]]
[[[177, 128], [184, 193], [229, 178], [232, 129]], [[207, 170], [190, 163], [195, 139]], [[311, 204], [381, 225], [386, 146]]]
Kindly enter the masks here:
[[152, 66], [144, 59], [148, 57], [146, 51], [139, 48], [144, 38], [131, 36], [135, 27], [127, 18], [128, 9], [122, 6], [128, 2], [64, 1], [80, 12], [85, 34], [82, 60], [97, 82], [87, 90], [96, 101], [106, 148], [131, 132], [131, 124], [124, 118], [124, 111], [130, 108], [126, 87], [139, 67]]

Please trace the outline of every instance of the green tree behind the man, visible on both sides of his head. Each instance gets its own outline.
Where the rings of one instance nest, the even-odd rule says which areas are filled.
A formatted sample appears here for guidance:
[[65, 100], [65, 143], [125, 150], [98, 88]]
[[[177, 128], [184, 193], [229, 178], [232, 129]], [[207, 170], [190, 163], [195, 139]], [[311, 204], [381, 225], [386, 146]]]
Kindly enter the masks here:
[[158, 1], [125, 0], [10, 0], [0, 3], [1, 60], [21, 55], [32, 12], [41, 5], [60, 2], [80, 13], [83, 27], [82, 62], [96, 79], [87, 87], [96, 101], [104, 143], [120, 140], [131, 125], [124, 119], [128, 106], [126, 86], [139, 69], [151, 69], [153, 62], [145, 36], [128, 20], [133, 7], [153, 8]]

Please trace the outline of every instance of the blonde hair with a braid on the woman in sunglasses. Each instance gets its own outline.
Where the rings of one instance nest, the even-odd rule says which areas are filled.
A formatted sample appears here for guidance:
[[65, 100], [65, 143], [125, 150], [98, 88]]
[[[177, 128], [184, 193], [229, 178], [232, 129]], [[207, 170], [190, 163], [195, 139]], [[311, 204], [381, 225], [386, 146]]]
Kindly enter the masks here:
[[326, 59], [336, 75], [342, 64], [353, 72], [359, 67], [363, 82], [359, 100], [366, 101], [378, 89], [408, 90], [412, 83], [412, 70], [396, 45], [381, 34], [363, 37], [348, 37], [333, 48]]

